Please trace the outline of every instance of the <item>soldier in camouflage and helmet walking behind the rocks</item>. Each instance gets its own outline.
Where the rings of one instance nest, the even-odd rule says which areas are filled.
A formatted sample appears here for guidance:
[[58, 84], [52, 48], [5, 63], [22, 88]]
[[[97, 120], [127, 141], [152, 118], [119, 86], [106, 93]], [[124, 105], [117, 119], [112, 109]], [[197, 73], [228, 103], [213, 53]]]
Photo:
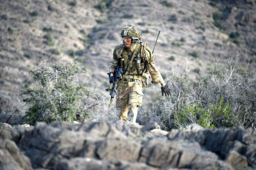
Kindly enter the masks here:
[[113, 58], [109, 64], [109, 83], [114, 83], [114, 71], [119, 65], [123, 70], [123, 78], [118, 80], [116, 89], [119, 120], [135, 122], [138, 107], [142, 104], [142, 89], [148, 86], [150, 75], [152, 83], [161, 84], [162, 96], [171, 95], [171, 91], [156, 68], [153, 54], [147, 43], [141, 42], [141, 31], [137, 27], [126, 26], [121, 30], [121, 37], [123, 44], [115, 46]]

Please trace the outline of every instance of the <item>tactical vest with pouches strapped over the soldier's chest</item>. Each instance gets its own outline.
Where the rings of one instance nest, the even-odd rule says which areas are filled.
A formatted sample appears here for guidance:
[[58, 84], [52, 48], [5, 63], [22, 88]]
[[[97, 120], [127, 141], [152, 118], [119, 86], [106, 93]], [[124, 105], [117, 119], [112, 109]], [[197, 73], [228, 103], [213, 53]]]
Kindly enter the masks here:
[[[136, 49], [134, 49], [136, 50]], [[146, 44], [139, 43], [137, 46], [137, 51], [135, 52], [135, 56], [133, 59], [133, 62], [131, 63], [130, 70], [127, 70], [127, 67], [129, 66], [131, 56], [133, 55], [133, 52], [130, 54], [127, 53], [127, 49], [123, 49], [122, 57], [121, 57], [121, 67], [124, 71], [129, 71], [131, 75], [142, 75], [144, 72], [147, 71], [146, 68], [146, 59], [145, 54], [146, 50], [150, 52], [150, 61], [152, 59], [152, 53], [151, 50], [147, 47]]]

